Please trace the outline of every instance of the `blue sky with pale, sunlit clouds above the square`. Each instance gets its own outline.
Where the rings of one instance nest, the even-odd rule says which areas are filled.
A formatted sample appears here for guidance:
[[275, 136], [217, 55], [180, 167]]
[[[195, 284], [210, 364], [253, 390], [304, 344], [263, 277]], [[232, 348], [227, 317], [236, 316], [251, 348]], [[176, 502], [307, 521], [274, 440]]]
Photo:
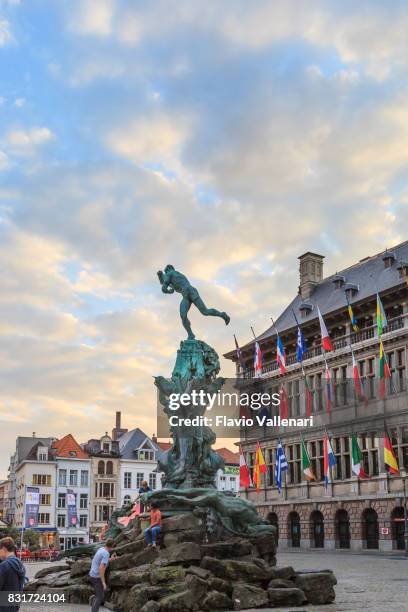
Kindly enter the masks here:
[[0, 0], [0, 475], [17, 435], [154, 433], [167, 263], [222, 355], [303, 252], [407, 238], [407, 30], [398, 0]]

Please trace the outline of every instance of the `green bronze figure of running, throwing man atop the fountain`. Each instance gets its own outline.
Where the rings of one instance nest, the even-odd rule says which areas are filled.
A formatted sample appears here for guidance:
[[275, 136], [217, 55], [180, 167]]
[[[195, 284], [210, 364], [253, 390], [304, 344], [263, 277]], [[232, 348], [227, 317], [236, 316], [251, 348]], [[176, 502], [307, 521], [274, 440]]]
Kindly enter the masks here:
[[221, 319], [224, 319], [225, 325], [228, 325], [230, 322], [230, 317], [226, 312], [220, 312], [216, 308], [207, 308], [197, 289], [190, 284], [188, 278], [184, 276], [184, 274], [177, 272], [174, 266], [168, 264], [164, 268], [164, 272], [162, 270], [158, 271], [157, 276], [159, 277], [163, 293], [174, 293], [176, 291], [183, 296], [180, 303], [180, 317], [184, 329], [188, 333], [189, 340], [194, 340], [195, 338], [191, 330], [190, 321], [187, 317], [187, 313], [192, 304], [194, 304], [205, 317], [221, 317]]

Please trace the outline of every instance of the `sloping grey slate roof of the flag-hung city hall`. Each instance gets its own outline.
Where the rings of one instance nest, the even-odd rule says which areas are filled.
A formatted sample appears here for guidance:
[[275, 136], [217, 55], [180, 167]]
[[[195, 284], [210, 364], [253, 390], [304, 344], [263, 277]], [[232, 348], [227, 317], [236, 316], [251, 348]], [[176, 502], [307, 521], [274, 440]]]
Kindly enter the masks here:
[[[384, 266], [384, 256], [392, 252], [395, 255], [393, 265], [386, 268]], [[320, 311], [324, 316], [326, 313], [335, 312], [341, 308], [347, 308], [347, 300], [345, 294], [345, 287], [355, 286], [358, 287], [358, 291], [350, 298], [350, 303], [355, 304], [364, 301], [370, 297], [375, 298], [376, 293], [382, 293], [398, 285], [404, 286], [406, 284], [405, 279], [400, 277], [399, 273], [399, 262], [408, 261], [408, 241], [402, 242], [391, 250], [384, 250], [377, 255], [372, 257], [366, 257], [356, 264], [340, 270], [327, 278], [322, 279], [314, 287], [310, 297], [307, 298], [307, 303], [313, 306], [313, 309], [306, 312], [304, 316], [301, 316], [300, 305], [305, 302], [302, 296], [298, 294], [292, 302], [285, 308], [281, 315], [276, 319], [275, 324], [279, 333], [284, 333], [290, 329], [296, 327], [296, 322], [293, 316], [295, 313], [300, 325], [309, 323], [313, 320], [318, 320], [317, 315], [317, 304], [319, 304]], [[343, 285], [339, 289], [333, 288], [334, 277], [344, 276], [346, 279], [346, 285]], [[274, 327], [271, 325], [266, 331], [257, 337], [258, 341], [265, 340], [266, 338], [273, 338], [276, 335]], [[254, 344], [254, 341], [250, 341], [241, 347], [241, 350], [245, 350]], [[236, 355], [236, 351], [231, 350], [225, 354], [225, 357], [232, 358]]]

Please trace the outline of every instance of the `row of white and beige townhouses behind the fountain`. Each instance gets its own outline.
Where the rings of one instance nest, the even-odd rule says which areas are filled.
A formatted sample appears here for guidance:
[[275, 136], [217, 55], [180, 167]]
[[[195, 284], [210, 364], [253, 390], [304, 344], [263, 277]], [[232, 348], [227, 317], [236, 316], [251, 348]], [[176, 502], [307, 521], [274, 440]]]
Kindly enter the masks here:
[[[11, 456], [9, 477], [0, 482], [0, 520], [21, 529], [24, 525], [26, 487], [38, 487], [40, 507], [37, 531], [42, 547], [68, 549], [98, 539], [112, 512], [134, 500], [144, 481], [152, 490], [161, 488], [158, 455], [169, 442], [150, 438], [139, 428], [121, 427], [116, 413], [112, 435], [79, 444], [72, 434], [61, 439], [19, 436]], [[225, 471], [217, 486], [237, 492], [238, 455], [218, 451]], [[69, 524], [68, 493], [76, 503], [76, 524]]]

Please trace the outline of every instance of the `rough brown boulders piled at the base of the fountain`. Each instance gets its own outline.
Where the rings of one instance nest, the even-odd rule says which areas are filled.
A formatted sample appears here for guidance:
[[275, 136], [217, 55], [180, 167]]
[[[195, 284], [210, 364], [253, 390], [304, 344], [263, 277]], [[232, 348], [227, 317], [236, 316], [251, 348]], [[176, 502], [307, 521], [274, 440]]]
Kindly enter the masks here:
[[[146, 548], [137, 518], [115, 539], [117, 558], [109, 564], [107, 606], [121, 612], [244, 610], [328, 604], [334, 601], [331, 571], [296, 572], [276, 567], [270, 534], [208, 542], [203, 519], [194, 513], [163, 520], [160, 546]], [[91, 559], [68, 559], [40, 570], [29, 592], [64, 594], [71, 603], [88, 603], [93, 590]]]

